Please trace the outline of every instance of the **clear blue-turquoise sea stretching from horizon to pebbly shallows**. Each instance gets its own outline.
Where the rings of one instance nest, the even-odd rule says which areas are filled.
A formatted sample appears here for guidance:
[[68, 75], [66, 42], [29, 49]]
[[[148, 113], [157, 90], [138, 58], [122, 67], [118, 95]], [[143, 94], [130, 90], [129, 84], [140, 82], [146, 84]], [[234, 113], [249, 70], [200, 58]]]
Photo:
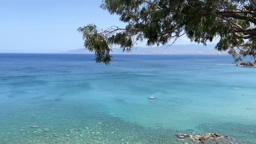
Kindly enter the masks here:
[[256, 68], [230, 56], [0, 58], [1, 143], [184, 143], [174, 135], [215, 132], [256, 143]]

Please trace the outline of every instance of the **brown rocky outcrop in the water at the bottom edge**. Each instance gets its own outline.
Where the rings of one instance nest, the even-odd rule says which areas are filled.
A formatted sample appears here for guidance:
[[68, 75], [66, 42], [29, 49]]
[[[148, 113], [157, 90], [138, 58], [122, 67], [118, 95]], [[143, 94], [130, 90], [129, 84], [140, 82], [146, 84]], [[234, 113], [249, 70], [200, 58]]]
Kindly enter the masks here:
[[223, 136], [217, 133], [208, 133], [205, 135], [189, 135], [189, 134], [176, 134], [176, 136], [179, 139], [186, 139], [186, 140], [190, 140], [191, 143], [195, 143], [195, 144], [199, 144], [199, 143], [237, 143], [235, 139], [233, 139], [232, 137], [229, 136]]

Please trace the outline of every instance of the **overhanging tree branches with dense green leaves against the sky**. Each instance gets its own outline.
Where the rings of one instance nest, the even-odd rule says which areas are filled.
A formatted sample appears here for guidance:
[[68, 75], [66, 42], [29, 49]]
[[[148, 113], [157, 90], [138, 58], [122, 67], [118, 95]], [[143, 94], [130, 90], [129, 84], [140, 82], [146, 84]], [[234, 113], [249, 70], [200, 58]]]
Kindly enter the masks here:
[[113, 45], [129, 52], [137, 41], [173, 44], [182, 35], [203, 45], [218, 37], [215, 48], [228, 51], [235, 62], [256, 57], [256, 0], [105, 0], [100, 7], [126, 26], [78, 28], [96, 62], [109, 64]]

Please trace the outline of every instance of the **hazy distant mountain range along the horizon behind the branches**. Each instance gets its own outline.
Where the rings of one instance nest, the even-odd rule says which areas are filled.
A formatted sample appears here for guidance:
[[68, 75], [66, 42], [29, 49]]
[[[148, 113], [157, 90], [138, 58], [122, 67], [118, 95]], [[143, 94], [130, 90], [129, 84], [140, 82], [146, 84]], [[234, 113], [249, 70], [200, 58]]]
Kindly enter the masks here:
[[[123, 52], [122, 49], [112, 49], [112, 54], [132, 54], [132, 55], [175, 55], [175, 54], [205, 54], [205, 55], [225, 55], [227, 52], [219, 52], [214, 49], [214, 44], [203, 46], [200, 44], [187, 45], [164, 45], [158, 47], [133, 47], [131, 52]], [[69, 50], [65, 53], [92, 53], [87, 49]]]

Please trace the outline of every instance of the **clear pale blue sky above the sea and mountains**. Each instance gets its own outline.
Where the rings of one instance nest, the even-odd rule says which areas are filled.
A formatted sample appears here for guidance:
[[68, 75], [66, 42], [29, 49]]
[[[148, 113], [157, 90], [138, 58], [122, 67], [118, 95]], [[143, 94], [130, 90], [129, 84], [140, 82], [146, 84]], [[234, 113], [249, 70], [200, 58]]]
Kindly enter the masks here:
[[[56, 53], [83, 48], [80, 26], [125, 27], [101, 0], [0, 0], [0, 52]], [[176, 44], [190, 44], [186, 37]], [[146, 47], [146, 41], [137, 46]]]

